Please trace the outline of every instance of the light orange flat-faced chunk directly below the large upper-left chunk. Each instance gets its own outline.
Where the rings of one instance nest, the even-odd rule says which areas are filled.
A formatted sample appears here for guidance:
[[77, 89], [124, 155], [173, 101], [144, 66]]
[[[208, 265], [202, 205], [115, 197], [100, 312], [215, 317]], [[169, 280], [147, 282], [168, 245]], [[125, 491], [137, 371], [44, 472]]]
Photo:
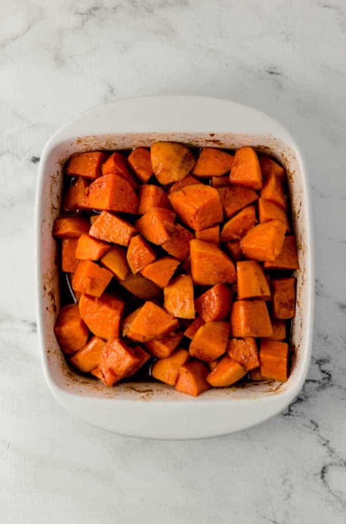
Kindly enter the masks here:
[[90, 228], [89, 234], [106, 242], [128, 246], [131, 236], [137, 233], [136, 227], [118, 216], [103, 211]]

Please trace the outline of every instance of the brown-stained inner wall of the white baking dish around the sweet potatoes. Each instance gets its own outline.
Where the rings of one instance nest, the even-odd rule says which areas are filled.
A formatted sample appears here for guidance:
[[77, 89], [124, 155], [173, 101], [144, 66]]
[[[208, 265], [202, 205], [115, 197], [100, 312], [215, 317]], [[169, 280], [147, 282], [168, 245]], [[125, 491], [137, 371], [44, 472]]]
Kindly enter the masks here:
[[288, 175], [289, 193], [291, 197], [293, 222], [297, 238], [300, 269], [295, 272], [297, 278], [297, 306], [296, 317], [292, 326], [293, 361], [292, 372], [286, 384], [270, 381], [264, 383], [250, 383], [242, 387], [212, 389], [203, 397], [218, 398], [259, 398], [263, 395], [278, 394], [283, 391], [297, 374], [300, 355], [305, 346], [303, 336], [304, 304], [307, 301], [306, 265], [306, 221], [304, 217], [302, 177], [299, 172], [298, 160], [294, 150], [271, 136], [254, 135], [220, 135], [220, 134], [130, 134], [78, 137], [72, 141], [60, 143], [55, 147], [46, 163], [41, 201], [41, 293], [42, 293], [42, 320], [44, 329], [44, 345], [48, 369], [56, 386], [68, 389], [86, 396], [118, 397], [121, 398], [150, 398], [174, 399], [176, 391], [160, 383], [133, 383], [119, 384], [114, 388], [106, 388], [97, 380], [75, 374], [60, 351], [53, 333], [53, 324], [60, 306], [59, 298], [59, 271], [57, 243], [51, 235], [55, 217], [59, 215], [62, 189], [62, 167], [65, 160], [74, 152], [85, 150], [115, 150], [131, 149], [135, 146], [150, 146], [155, 140], [174, 140], [189, 146], [213, 146], [227, 149], [237, 149], [248, 145], [256, 150], [270, 154], [277, 158], [286, 168]]

